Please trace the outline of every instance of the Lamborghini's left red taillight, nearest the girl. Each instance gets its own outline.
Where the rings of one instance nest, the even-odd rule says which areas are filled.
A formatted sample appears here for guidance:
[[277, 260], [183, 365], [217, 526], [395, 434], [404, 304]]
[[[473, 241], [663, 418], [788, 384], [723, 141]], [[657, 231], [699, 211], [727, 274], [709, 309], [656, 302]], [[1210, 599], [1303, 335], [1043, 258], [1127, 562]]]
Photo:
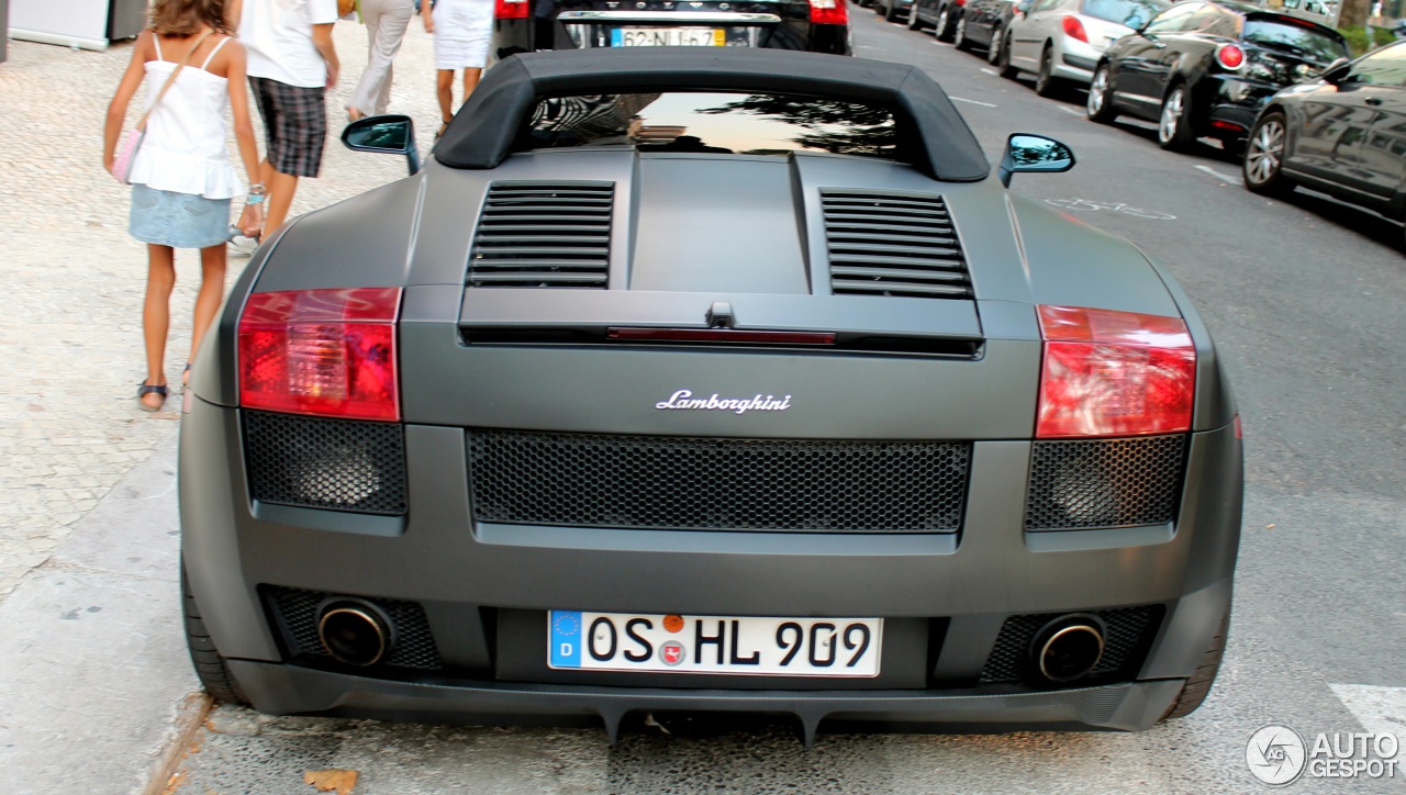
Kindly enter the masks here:
[[239, 405], [399, 420], [399, 308], [398, 287], [250, 295], [239, 316]]

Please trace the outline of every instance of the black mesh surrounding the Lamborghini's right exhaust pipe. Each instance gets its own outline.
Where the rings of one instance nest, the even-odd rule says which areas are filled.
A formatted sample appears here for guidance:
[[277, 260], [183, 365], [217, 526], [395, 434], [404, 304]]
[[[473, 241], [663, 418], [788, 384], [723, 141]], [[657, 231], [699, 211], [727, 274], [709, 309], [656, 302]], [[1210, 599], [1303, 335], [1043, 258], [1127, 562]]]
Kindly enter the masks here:
[[[1088, 676], [1133, 676], [1136, 666], [1142, 663], [1140, 652], [1152, 639], [1150, 633], [1157, 628], [1156, 619], [1161, 617], [1161, 605], [1143, 605], [1092, 611], [1091, 615], [1104, 619], [1107, 635], [1104, 636], [1104, 656], [1098, 662], [1098, 667]], [[1063, 615], [1069, 614], [1043, 612], [1007, 618], [1001, 626], [1001, 635], [995, 639], [995, 648], [991, 649], [991, 656], [981, 667], [980, 681], [988, 684], [1038, 678], [1038, 671], [1031, 660], [1031, 643], [1035, 642], [1036, 632]]]

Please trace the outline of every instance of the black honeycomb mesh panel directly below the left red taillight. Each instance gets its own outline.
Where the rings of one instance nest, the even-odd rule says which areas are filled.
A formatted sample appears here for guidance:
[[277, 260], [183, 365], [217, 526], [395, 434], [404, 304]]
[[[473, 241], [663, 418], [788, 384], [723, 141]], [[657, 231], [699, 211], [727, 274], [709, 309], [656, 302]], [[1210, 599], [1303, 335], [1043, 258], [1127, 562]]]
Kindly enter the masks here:
[[398, 423], [245, 412], [249, 493], [263, 503], [361, 514], [405, 513]]

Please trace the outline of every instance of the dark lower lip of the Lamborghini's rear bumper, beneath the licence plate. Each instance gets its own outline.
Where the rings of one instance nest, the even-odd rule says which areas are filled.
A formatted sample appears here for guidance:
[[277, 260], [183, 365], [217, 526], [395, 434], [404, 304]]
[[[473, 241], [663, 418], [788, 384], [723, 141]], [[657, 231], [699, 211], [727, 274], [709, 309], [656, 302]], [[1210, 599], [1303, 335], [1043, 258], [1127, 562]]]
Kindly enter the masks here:
[[374, 716], [474, 725], [550, 721], [603, 725], [613, 740], [631, 712], [754, 712], [890, 729], [1014, 732], [1125, 730], [1152, 726], [1181, 680], [1008, 695], [912, 691], [797, 692], [560, 687], [517, 683], [449, 685], [385, 681], [297, 666], [235, 660], [231, 671], [254, 707], [274, 714]]

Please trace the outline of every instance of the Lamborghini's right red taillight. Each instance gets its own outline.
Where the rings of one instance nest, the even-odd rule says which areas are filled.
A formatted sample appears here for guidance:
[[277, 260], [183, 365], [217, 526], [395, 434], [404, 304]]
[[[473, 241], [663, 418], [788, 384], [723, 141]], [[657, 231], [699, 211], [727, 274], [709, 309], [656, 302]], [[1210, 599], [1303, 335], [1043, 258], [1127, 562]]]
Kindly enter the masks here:
[[1181, 317], [1040, 306], [1036, 438], [1191, 430], [1197, 350]]

